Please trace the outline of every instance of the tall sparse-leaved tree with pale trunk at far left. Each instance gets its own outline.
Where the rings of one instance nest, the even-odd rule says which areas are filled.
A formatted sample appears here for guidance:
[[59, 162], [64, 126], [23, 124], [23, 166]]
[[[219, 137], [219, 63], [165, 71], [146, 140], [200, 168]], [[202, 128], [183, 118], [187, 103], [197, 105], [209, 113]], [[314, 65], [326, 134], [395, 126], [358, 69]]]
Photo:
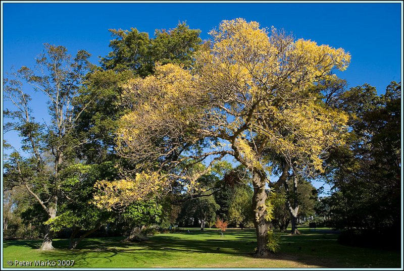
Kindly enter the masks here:
[[[67, 199], [60, 173], [74, 163], [75, 148], [80, 144], [74, 128], [87, 104], [78, 104], [74, 98], [88, 71], [90, 55], [79, 50], [72, 57], [64, 46], [47, 43], [44, 46], [34, 69], [21, 67], [4, 82], [5, 98], [11, 103], [4, 115], [12, 119], [5, 127], [19, 132], [22, 150], [27, 154], [14, 151], [5, 165], [4, 175], [11, 182], [9, 185], [25, 186], [48, 219], [55, 219], [58, 204]], [[32, 116], [27, 86], [43, 94], [49, 122], [41, 124]], [[74, 106], [81, 108], [76, 115], [73, 115]], [[53, 249], [53, 235], [48, 228], [42, 250]]]

